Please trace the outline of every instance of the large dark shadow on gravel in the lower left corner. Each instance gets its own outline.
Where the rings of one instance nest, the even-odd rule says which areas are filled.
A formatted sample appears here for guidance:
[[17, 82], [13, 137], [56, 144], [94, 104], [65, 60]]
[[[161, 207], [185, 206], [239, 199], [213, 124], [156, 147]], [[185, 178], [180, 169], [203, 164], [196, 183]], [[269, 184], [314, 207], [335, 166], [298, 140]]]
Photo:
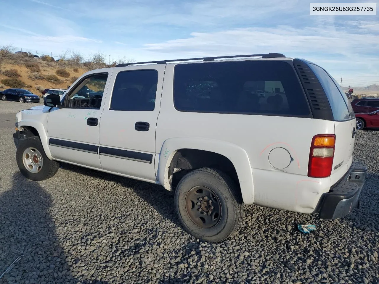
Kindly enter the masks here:
[[19, 172], [12, 178], [11, 189], [0, 195], [0, 275], [19, 256], [23, 257], [4, 274], [0, 283], [80, 282], [71, 275], [56, 237], [49, 212], [52, 197]]

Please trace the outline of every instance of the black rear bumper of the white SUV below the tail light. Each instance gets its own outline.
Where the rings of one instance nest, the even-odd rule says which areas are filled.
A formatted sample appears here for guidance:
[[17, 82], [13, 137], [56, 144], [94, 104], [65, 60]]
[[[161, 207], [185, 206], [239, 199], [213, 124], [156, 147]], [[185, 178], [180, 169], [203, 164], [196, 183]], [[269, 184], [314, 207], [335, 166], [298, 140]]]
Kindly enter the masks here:
[[352, 209], [359, 207], [359, 196], [365, 183], [367, 166], [352, 162], [349, 171], [329, 192], [324, 193], [319, 217], [335, 219], [348, 215]]

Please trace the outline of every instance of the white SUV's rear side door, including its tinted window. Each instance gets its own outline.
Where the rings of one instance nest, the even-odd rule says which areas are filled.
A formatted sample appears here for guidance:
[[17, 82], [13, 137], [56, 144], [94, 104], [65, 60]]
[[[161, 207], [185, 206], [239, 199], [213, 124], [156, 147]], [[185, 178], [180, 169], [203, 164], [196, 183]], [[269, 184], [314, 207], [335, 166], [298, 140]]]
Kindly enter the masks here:
[[119, 67], [100, 123], [104, 170], [155, 181], [155, 128], [165, 64]]

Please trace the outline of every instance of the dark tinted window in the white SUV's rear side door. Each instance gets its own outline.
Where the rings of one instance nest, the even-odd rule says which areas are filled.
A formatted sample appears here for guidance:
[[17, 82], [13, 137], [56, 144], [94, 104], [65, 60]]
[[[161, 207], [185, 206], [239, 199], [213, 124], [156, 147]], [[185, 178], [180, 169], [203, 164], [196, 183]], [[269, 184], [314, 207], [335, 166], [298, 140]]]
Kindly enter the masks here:
[[111, 110], [153, 111], [157, 93], [156, 70], [122, 71], [114, 83]]

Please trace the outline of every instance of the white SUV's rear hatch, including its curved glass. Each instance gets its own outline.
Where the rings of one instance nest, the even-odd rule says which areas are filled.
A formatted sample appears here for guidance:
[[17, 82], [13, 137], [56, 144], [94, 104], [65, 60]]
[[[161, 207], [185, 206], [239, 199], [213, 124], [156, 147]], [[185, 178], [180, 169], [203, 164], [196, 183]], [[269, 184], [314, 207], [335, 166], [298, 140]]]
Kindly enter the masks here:
[[308, 64], [317, 76], [329, 101], [335, 130], [335, 150], [330, 175], [336, 183], [348, 171], [354, 150], [356, 119], [352, 106], [334, 78], [323, 68]]

